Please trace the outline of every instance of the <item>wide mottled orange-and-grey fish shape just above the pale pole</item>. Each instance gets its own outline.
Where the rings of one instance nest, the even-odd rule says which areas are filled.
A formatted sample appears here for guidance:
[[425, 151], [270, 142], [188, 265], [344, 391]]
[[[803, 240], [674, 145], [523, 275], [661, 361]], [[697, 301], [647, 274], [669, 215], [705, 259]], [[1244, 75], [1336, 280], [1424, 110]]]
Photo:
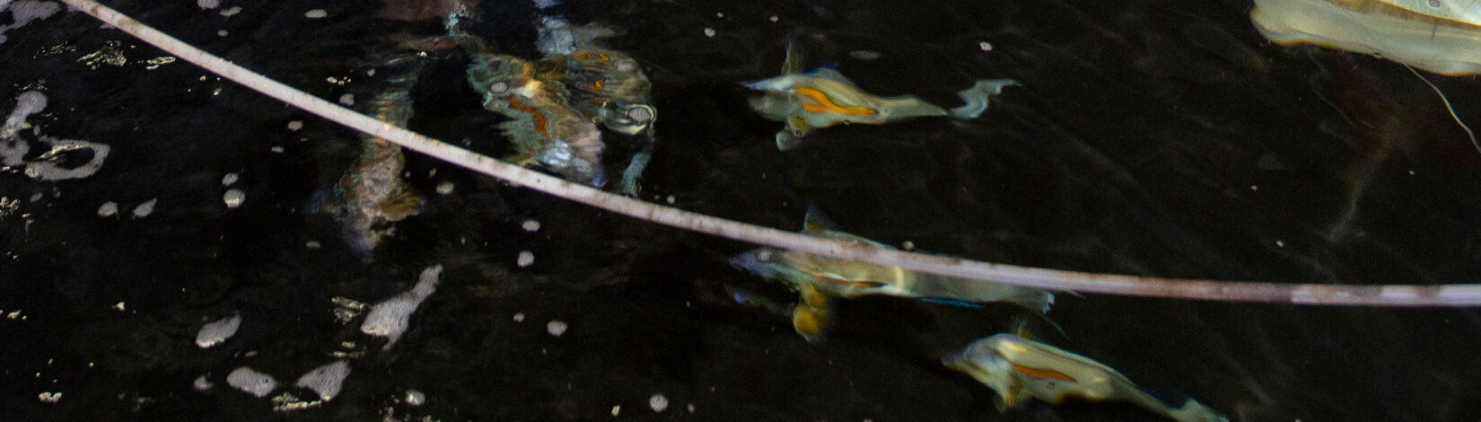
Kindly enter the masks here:
[[472, 56], [468, 81], [483, 95], [486, 110], [511, 118], [499, 126], [517, 151], [509, 161], [542, 164], [566, 179], [603, 185], [606, 144], [600, 124], [635, 144], [621, 190], [637, 194], [637, 178], [653, 150], [658, 113], [650, 105], [652, 84], [637, 61], [594, 46], [597, 37], [612, 31], [545, 16], [539, 47], [546, 56], [526, 61], [495, 53], [464, 30], [461, 22], [471, 16], [467, 7], [453, 9], [446, 25]]

